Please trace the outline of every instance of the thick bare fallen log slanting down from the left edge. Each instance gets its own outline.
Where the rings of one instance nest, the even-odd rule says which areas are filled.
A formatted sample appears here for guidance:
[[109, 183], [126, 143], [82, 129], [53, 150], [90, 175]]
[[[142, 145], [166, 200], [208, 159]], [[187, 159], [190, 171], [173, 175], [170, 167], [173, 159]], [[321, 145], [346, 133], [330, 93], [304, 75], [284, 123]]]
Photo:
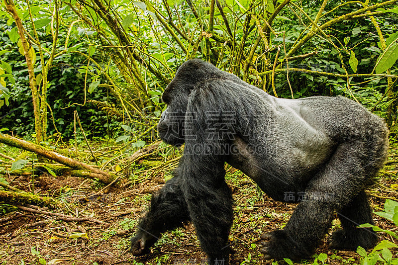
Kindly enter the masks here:
[[81, 170], [89, 170], [91, 173], [88, 175], [90, 178], [98, 178], [104, 183], [110, 183], [112, 182], [114, 176], [101, 171], [99, 169], [96, 169], [90, 165], [87, 165], [85, 163], [82, 163], [80, 161], [77, 161], [72, 158], [65, 157], [61, 154], [58, 154], [57, 152], [46, 150], [43, 147], [29, 143], [27, 141], [24, 141], [22, 139], [12, 137], [10, 135], [2, 134], [0, 133], [0, 143], [13, 146], [13, 147], [18, 147], [22, 148], [24, 150], [36, 153], [37, 155], [40, 155], [42, 157], [57, 161], [63, 165], [66, 165], [71, 168], [75, 169], [81, 169]]

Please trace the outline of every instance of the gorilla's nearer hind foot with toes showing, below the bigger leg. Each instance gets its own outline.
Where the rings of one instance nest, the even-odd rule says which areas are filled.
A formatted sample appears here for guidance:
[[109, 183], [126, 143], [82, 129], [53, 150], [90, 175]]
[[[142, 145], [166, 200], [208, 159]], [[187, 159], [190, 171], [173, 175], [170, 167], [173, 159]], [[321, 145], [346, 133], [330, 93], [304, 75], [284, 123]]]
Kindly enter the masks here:
[[260, 238], [265, 240], [260, 243], [260, 252], [264, 254], [265, 259], [288, 258], [297, 261], [312, 254], [289, 237], [284, 230], [274, 230], [261, 235]]

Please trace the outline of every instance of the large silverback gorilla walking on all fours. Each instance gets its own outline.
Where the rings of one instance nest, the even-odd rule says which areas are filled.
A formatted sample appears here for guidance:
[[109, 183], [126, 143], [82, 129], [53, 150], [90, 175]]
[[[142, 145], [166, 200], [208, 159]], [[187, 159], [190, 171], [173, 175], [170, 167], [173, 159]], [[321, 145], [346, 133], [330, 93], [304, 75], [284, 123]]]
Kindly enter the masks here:
[[148, 254], [167, 230], [192, 221], [208, 263], [229, 264], [233, 200], [224, 163], [251, 177], [270, 197], [299, 202], [284, 229], [261, 236], [266, 259], [311, 255], [336, 210], [342, 229], [329, 247], [373, 247], [378, 236], [365, 189], [386, 160], [385, 123], [360, 104], [338, 96], [273, 97], [194, 59], [166, 87], [158, 133], [185, 143], [174, 177], [153, 196], [140, 219], [130, 252]]

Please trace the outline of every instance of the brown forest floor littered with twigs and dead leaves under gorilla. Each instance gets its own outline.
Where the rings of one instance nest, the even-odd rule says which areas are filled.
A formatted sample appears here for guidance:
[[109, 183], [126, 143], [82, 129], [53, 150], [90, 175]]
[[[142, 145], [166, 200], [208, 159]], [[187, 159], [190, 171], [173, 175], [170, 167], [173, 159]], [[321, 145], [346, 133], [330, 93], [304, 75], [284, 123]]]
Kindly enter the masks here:
[[[391, 167], [389, 168], [391, 169]], [[370, 191], [374, 211], [383, 209], [385, 198], [398, 198], [394, 171], [382, 174], [380, 184]], [[259, 237], [262, 233], [281, 229], [290, 218], [297, 204], [273, 201], [256, 190], [255, 184], [239, 171], [229, 170], [227, 182], [233, 192], [234, 224], [230, 232], [233, 265], [272, 264], [258, 251]], [[132, 182], [121, 179], [115, 185], [96, 194], [101, 189], [95, 180], [71, 176], [53, 177], [43, 174], [36, 179], [35, 191], [51, 195], [62, 201], [60, 209], [44, 209], [68, 214], [71, 217], [92, 217], [106, 224], [90, 222], [35, 222], [52, 219], [45, 214], [34, 214], [16, 209], [0, 215], [0, 265], [62, 264], [62, 265], [194, 265], [205, 264], [205, 254], [201, 251], [192, 224], [173, 232], [165, 233], [152, 247], [149, 255], [140, 258], [127, 252], [129, 236], [133, 234], [138, 218], [146, 209], [151, 193], [164, 185], [163, 173], [142, 181]], [[30, 191], [30, 176], [10, 176], [10, 185]], [[5, 209], [4, 209], [5, 210]], [[9, 211], [10, 209], [7, 209]], [[385, 218], [374, 215], [376, 225], [392, 230], [395, 226]], [[328, 249], [327, 237], [338, 228], [335, 216], [329, 230], [316, 249], [316, 256], [325, 253], [325, 264], [359, 264], [356, 252]], [[85, 234], [87, 233], [87, 234]], [[70, 235], [73, 237], [70, 238]], [[394, 240], [381, 234], [382, 239]], [[397, 242], [395, 242], [397, 243]], [[391, 249], [397, 258], [397, 249]], [[314, 258], [295, 264], [312, 264]], [[321, 264], [320, 262], [318, 262]], [[219, 265], [222, 265], [219, 262]], [[285, 262], [278, 262], [285, 264]]]

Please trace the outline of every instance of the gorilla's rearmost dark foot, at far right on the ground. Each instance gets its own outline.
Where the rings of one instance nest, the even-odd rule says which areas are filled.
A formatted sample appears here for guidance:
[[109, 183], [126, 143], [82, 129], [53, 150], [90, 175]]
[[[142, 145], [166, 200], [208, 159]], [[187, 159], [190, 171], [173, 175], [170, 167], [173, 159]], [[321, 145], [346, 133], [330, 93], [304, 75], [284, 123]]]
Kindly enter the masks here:
[[350, 232], [347, 234], [343, 229], [334, 231], [328, 239], [329, 248], [356, 250], [358, 246], [361, 246], [364, 249], [370, 249], [379, 241], [379, 236], [367, 228], [355, 228]]

